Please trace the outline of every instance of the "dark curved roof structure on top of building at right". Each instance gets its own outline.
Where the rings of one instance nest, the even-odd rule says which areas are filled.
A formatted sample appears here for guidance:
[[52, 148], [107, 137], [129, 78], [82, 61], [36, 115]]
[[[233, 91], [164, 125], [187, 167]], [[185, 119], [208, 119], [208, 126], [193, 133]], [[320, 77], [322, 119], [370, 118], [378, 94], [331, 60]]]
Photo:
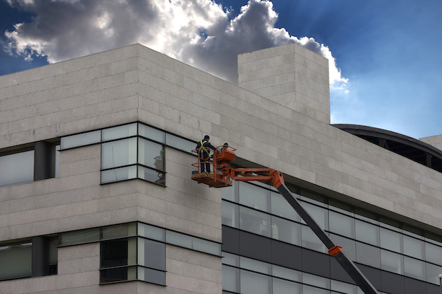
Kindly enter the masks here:
[[430, 144], [394, 131], [361, 125], [336, 124], [338, 129], [363, 138], [394, 153], [410, 158], [438, 172], [442, 172], [442, 151]]

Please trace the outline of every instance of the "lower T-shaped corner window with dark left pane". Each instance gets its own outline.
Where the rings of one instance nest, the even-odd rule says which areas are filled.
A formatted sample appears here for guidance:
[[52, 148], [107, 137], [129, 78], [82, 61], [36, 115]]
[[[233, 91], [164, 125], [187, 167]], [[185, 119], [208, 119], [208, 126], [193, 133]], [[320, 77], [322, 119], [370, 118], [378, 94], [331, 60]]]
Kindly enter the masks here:
[[166, 244], [221, 256], [221, 244], [146, 223], [64, 232], [59, 246], [100, 242], [100, 284], [139, 280], [166, 285]]

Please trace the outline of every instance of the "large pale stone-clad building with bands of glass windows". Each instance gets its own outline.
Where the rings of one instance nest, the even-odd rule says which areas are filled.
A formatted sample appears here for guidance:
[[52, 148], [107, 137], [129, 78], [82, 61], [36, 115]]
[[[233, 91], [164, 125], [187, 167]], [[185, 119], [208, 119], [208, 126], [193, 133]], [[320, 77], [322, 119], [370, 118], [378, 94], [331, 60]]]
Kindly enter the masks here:
[[296, 44], [238, 77], [139, 44], [1, 76], [0, 293], [361, 293], [270, 185], [191, 181], [205, 134], [282, 172], [380, 293], [439, 293], [442, 136], [330, 125]]

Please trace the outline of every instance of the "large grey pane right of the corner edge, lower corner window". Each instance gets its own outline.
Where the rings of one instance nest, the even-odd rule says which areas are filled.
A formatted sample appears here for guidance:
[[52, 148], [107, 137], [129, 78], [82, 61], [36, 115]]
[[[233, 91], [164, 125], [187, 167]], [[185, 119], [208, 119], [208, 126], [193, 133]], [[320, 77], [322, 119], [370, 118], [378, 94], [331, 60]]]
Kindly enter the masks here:
[[166, 244], [138, 238], [138, 264], [157, 270], [166, 270]]

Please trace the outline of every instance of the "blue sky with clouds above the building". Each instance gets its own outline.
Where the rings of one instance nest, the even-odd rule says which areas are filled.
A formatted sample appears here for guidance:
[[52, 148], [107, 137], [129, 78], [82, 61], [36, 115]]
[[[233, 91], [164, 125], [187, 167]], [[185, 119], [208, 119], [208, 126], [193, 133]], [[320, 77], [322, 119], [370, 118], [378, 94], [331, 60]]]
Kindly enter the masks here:
[[442, 134], [442, 0], [0, 0], [0, 75], [135, 43], [237, 84], [237, 55], [329, 59], [332, 123]]

